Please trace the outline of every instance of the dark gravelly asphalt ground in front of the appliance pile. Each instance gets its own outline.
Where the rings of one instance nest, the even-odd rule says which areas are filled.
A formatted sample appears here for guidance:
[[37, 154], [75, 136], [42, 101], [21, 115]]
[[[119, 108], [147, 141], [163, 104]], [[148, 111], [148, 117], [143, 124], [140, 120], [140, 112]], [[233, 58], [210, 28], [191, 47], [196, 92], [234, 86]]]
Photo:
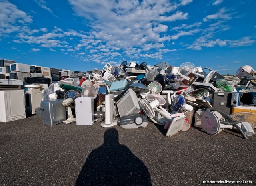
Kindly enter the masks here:
[[50, 127], [34, 115], [0, 122], [0, 131], [0, 185], [256, 184], [256, 135], [246, 140], [236, 130], [211, 136], [191, 127], [168, 138], [150, 122], [140, 129]]

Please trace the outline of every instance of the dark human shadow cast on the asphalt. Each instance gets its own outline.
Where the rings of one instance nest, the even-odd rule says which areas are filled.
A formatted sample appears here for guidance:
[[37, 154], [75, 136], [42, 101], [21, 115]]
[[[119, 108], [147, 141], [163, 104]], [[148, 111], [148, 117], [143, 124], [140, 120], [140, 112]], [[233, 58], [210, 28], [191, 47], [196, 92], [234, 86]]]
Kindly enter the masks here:
[[145, 164], [125, 145], [118, 141], [118, 131], [114, 128], [104, 133], [104, 144], [93, 150], [78, 178], [80, 185], [152, 185]]

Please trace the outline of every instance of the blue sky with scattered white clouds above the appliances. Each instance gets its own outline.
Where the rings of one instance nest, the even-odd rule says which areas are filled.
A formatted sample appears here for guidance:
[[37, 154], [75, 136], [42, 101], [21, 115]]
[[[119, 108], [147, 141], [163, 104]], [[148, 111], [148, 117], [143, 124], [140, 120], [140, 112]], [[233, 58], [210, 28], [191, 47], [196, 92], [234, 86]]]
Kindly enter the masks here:
[[0, 0], [0, 58], [87, 71], [106, 63], [256, 69], [255, 0]]

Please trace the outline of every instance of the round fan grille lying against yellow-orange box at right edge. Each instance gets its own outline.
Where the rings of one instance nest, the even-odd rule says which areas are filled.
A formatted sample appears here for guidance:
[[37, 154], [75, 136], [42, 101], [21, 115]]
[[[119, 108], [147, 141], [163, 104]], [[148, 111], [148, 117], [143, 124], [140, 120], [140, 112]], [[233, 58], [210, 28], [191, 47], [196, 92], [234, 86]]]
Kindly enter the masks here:
[[238, 112], [230, 114], [233, 120], [237, 120], [239, 122], [245, 121], [252, 125], [252, 128], [256, 128], [256, 114], [250, 112]]

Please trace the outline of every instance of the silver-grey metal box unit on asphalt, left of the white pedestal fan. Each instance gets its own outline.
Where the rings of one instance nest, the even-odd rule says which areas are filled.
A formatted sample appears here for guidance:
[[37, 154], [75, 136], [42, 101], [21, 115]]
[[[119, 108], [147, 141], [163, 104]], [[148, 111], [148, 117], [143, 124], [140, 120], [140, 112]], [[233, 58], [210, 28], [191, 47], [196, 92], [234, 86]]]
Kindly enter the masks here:
[[53, 127], [66, 120], [66, 107], [62, 102], [63, 99], [41, 101], [40, 111], [43, 124]]

